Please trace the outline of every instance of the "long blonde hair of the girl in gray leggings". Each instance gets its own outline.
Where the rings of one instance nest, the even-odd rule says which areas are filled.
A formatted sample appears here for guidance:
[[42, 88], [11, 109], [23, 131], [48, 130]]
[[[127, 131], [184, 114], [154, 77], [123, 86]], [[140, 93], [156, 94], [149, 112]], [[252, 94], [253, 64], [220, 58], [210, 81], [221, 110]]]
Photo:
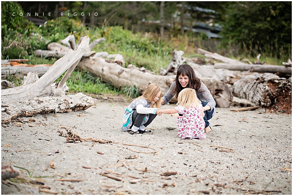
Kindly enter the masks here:
[[[157, 94], [160, 93], [160, 98], [155, 103], [152, 103], [152, 101], [155, 99]], [[155, 106], [154, 108], [160, 108], [161, 107], [161, 97], [162, 97], [162, 91], [161, 88], [156, 84], [149, 84], [146, 87], [146, 90], [144, 91], [144, 94], [139, 96], [138, 98], [146, 99], [149, 103], [151, 103], [151, 108]], [[136, 99], [138, 99], [136, 98]]]

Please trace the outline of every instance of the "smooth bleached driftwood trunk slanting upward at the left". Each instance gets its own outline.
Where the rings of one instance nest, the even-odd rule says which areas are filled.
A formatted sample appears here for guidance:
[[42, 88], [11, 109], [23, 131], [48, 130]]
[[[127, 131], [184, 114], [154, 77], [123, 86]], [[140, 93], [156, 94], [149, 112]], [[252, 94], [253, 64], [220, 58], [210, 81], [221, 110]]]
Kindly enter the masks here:
[[[88, 50], [89, 37], [85, 36], [76, 50], [70, 49], [61, 59], [58, 59], [53, 66], [36, 82], [1, 90], [1, 101], [13, 102], [14, 100], [24, 101], [33, 97], [44, 97], [51, 95], [51, 84], [72, 66], [76, 66], [82, 56]], [[71, 69], [70, 71], [72, 71]], [[68, 76], [68, 74], [65, 74]], [[63, 88], [63, 86], [57, 86]]]

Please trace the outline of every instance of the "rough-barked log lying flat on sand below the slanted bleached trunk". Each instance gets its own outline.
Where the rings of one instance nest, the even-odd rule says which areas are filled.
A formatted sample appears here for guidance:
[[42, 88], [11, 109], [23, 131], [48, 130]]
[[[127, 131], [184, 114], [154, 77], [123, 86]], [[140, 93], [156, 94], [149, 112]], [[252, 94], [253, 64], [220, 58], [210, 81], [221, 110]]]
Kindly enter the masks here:
[[1, 105], [1, 123], [8, 123], [17, 117], [30, 117], [34, 114], [70, 112], [86, 110], [96, 105], [97, 99], [82, 93], [62, 97], [39, 97], [26, 101], [15, 101]]

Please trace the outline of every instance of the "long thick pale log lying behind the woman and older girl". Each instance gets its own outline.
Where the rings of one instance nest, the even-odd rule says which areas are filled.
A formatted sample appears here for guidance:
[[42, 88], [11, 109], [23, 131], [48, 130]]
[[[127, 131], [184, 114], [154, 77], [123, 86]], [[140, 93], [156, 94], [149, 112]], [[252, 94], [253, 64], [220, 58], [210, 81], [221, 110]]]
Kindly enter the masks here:
[[[154, 75], [149, 72], [139, 71], [138, 69], [124, 68], [117, 63], [106, 62], [102, 57], [83, 58], [77, 66], [93, 73], [95, 76], [99, 76], [103, 81], [106, 81], [117, 88], [135, 85], [135, 87], [139, 89], [140, 94], [142, 94], [149, 84], [156, 83], [161, 88], [162, 95], [164, 95], [167, 93], [170, 85], [176, 77], [176, 75]], [[207, 82], [207, 88], [213, 89], [211, 93], [216, 93], [216, 96], [214, 96], [214, 94], [212, 95], [219, 107], [228, 107], [229, 104], [231, 104], [233, 96], [231, 96], [231, 90], [227, 88], [227, 85], [224, 82], [216, 81], [211, 78], [201, 79], [203, 81], [210, 81]], [[214, 85], [215, 83], [217, 83], [217, 85]], [[227, 97], [223, 99], [219, 94], [221, 94], [222, 97]], [[173, 99], [172, 101], [176, 102], [176, 99]]]

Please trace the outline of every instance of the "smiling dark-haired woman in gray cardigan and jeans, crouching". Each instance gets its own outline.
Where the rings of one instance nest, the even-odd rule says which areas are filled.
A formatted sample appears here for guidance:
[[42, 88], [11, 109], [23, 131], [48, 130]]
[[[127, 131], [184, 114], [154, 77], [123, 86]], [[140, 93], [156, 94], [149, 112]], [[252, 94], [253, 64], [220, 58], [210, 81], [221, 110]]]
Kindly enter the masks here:
[[161, 98], [161, 105], [170, 102], [174, 96], [177, 99], [179, 92], [184, 88], [192, 88], [196, 91], [196, 96], [202, 102], [205, 113], [205, 132], [210, 132], [211, 128], [208, 120], [210, 120], [215, 113], [216, 102], [205, 83], [196, 76], [190, 65], [183, 64], [178, 67], [174, 82], [170, 86], [167, 94]]

